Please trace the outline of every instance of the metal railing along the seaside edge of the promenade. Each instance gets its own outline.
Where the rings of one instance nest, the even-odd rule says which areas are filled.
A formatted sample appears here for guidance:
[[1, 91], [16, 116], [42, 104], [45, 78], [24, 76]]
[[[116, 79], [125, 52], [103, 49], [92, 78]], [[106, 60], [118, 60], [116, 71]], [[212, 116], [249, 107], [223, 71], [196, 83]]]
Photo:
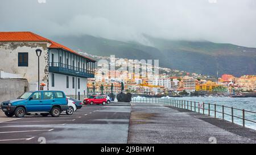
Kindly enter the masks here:
[[[200, 114], [213, 116], [214, 118], [221, 118], [224, 120], [228, 120], [232, 123], [235, 123], [234, 118], [237, 118], [242, 120], [241, 124], [243, 127], [245, 127], [246, 121], [251, 123], [256, 123], [256, 120], [255, 120], [256, 117], [254, 117], [253, 120], [246, 119], [246, 113], [249, 114], [250, 116], [256, 116], [255, 111], [249, 111], [241, 108], [229, 107], [229, 106], [224, 106], [219, 104], [204, 103], [204, 102], [200, 103], [200, 102], [193, 102], [189, 100], [161, 99], [161, 98], [139, 98], [139, 99], [133, 98], [131, 102], [163, 104], [165, 106], [177, 107], [177, 108], [182, 108], [189, 111], [199, 112]], [[230, 119], [226, 119], [226, 116], [229, 116]]]

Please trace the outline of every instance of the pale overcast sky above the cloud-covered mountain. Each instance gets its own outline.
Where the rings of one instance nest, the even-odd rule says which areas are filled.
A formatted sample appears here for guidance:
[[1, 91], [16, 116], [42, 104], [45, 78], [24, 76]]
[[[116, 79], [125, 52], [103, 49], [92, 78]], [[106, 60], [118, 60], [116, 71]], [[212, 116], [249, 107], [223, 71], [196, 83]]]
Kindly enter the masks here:
[[0, 15], [0, 31], [45, 37], [88, 34], [147, 44], [147, 34], [256, 47], [256, 0], [1, 0]]

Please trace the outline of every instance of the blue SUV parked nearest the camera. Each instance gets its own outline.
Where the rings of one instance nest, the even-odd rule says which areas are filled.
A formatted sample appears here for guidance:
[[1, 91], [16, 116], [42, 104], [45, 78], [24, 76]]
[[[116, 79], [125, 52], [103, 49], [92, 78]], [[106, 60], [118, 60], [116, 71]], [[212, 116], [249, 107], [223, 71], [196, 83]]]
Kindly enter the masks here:
[[1, 108], [8, 117], [30, 114], [58, 117], [68, 109], [68, 99], [63, 91], [28, 91], [18, 99], [2, 102]]

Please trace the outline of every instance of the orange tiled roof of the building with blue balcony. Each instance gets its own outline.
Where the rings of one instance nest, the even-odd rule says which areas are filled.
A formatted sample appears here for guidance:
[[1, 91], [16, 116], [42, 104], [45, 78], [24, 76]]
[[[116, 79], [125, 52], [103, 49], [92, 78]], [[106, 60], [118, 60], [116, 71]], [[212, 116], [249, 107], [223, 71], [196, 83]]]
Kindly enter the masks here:
[[[49, 48], [60, 48], [60, 49], [64, 49], [66, 51], [75, 53], [76, 55], [79, 55], [81, 57], [85, 57], [85, 56], [82, 56], [79, 53], [73, 51], [72, 49], [65, 47], [64, 45], [56, 43], [55, 41], [49, 40], [45, 37], [36, 35], [35, 33], [32, 33], [32, 32], [0, 32], [0, 42], [1, 41], [2, 42], [14, 42], [14, 41], [17, 41], [17, 42], [22, 42], [22, 41], [48, 42], [48, 43], [51, 43]], [[85, 58], [88, 58], [89, 60], [92, 60], [92, 61], [96, 61], [89, 57], [85, 57]]]

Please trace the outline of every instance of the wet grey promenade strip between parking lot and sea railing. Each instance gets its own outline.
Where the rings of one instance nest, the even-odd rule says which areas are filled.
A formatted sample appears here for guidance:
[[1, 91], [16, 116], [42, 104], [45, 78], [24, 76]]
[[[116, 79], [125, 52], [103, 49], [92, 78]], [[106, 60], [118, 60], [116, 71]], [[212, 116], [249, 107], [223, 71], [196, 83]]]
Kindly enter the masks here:
[[179, 108], [132, 103], [128, 143], [256, 143], [256, 131]]

